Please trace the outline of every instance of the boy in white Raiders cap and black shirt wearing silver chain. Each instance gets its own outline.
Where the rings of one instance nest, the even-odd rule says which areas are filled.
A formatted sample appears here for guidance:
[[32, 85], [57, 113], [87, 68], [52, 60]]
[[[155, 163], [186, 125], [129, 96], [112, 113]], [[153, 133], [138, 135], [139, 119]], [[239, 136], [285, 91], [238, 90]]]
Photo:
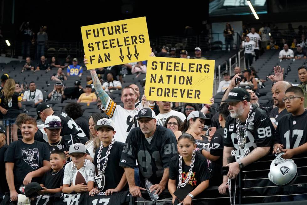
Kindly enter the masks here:
[[114, 140], [116, 132], [114, 122], [107, 118], [100, 119], [97, 121], [95, 130], [102, 144], [95, 153], [96, 188], [90, 191], [90, 195], [94, 196], [99, 192], [112, 195], [114, 192], [126, 191], [125, 170], [119, 166], [124, 143]]

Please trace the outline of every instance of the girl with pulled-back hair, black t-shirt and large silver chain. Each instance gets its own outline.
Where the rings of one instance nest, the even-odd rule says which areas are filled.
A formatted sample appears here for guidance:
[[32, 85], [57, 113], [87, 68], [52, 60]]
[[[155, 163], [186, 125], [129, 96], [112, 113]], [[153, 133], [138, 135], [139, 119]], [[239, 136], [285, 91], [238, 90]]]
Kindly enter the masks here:
[[208, 164], [206, 158], [195, 151], [196, 144], [192, 135], [182, 134], [177, 146], [179, 154], [169, 163], [168, 189], [173, 204], [175, 200], [177, 204], [178, 200], [183, 199], [183, 204], [188, 205], [209, 186]]

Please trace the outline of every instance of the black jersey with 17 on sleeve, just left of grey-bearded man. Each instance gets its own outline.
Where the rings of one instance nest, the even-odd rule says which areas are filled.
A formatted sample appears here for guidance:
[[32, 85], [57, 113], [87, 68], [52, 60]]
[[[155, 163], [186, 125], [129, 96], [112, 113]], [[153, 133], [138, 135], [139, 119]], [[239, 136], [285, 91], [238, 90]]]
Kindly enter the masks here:
[[223, 166], [223, 136], [224, 136], [224, 128], [219, 128], [215, 131], [214, 135], [210, 141], [210, 154], [214, 156], [220, 156], [220, 158], [216, 161], [211, 161], [211, 175], [212, 178], [210, 180], [211, 186], [220, 186], [223, 181], [223, 176], [221, 175], [222, 166]]

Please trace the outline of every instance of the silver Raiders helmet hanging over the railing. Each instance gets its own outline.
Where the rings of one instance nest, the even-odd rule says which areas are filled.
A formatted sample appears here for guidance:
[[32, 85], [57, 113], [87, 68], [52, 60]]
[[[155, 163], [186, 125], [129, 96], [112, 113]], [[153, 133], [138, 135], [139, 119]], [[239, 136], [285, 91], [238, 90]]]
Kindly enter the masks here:
[[272, 161], [268, 178], [278, 186], [288, 186], [297, 177], [297, 167], [292, 159], [284, 159], [281, 156], [284, 152], [276, 154]]

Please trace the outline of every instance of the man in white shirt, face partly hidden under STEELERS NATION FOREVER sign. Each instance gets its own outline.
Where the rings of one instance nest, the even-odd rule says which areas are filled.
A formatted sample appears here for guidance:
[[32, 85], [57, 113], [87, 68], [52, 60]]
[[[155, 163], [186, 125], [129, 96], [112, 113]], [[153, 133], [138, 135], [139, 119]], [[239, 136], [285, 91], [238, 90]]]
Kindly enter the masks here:
[[182, 112], [172, 110], [171, 102], [156, 101], [156, 103], [160, 110], [160, 114], [156, 116], [157, 125], [164, 126], [166, 119], [172, 115], [179, 117], [181, 121], [185, 121], [186, 117]]

